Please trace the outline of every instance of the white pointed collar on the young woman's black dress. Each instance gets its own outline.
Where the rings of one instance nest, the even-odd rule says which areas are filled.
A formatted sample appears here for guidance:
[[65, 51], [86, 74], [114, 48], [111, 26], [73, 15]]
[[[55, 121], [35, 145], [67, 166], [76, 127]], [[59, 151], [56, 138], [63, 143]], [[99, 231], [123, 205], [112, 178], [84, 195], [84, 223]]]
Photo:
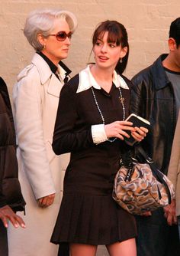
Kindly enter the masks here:
[[[117, 74], [116, 71], [113, 72], [113, 83], [116, 87], [121, 87], [123, 89], [129, 90], [127, 83], [121, 77], [121, 75]], [[95, 78], [90, 71], [90, 65], [88, 65], [84, 70], [79, 73], [79, 87], [76, 93], [80, 93], [83, 90], [88, 90], [89, 88], [94, 87], [95, 89], [101, 90], [100, 85], [96, 82]]]

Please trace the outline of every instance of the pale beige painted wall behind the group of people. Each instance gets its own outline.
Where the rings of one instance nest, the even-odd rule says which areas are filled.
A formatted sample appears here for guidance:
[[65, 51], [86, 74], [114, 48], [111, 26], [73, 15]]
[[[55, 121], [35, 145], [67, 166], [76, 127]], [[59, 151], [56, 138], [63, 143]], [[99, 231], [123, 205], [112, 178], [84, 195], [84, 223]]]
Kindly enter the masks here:
[[[88, 62], [92, 32], [98, 22], [116, 19], [124, 24], [130, 42], [124, 74], [129, 78], [159, 54], [168, 52], [169, 25], [180, 15], [179, 0], [0, 0], [0, 75], [8, 84], [10, 94], [17, 74], [30, 63], [34, 53], [22, 32], [27, 13], [45, 7], [67, 9], [78, 18], [79, 26], [65, 61], [72, 74]], [[102, 250], [100, 254], [105, 255]]]

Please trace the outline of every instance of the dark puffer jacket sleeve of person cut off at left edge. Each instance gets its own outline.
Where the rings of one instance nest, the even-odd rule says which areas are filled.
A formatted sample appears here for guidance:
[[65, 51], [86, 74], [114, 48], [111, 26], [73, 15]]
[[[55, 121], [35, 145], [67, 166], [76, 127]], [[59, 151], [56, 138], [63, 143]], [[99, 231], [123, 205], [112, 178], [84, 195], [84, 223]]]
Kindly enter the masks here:
[[9, 205], [14, 212], [24, 210], [18, 182], [14, 122], [4, 80], [0, 77], [0, 207]]

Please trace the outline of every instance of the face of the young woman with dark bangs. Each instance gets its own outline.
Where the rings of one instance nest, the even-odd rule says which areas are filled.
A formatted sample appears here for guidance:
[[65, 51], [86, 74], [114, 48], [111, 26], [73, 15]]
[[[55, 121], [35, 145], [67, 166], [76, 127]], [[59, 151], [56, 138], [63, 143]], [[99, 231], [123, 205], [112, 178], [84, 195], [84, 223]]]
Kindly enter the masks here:
[[121, 44], [117, 46], [114, 42], [108, 42], [108, 31], [106, 31], [103, 38], [98, 38], [96, 41], [93, 52], [98, 67], [111, 67], [114, 70], [120, 58], [127, 54], [127, 48], [122, 48]]

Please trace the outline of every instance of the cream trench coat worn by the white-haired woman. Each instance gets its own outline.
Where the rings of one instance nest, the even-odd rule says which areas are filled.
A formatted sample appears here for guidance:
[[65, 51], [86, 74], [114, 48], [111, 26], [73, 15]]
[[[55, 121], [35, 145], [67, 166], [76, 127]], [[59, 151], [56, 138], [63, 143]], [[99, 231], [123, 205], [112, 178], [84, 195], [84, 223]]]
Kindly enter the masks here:
[[[27, 228], [15, 230], [10, 226], [8, 229], [9, 256], [57, 255], [58, 246], [50, 243], [50, 237], [62, 199], [69, 154], [56, 156], [51, 145], [62, 86], [39, 54], [21, 71], [14, 85], [19, 179], [27, 202], [26, 216], [18, 214], [24, 218]], [[36, 199], [54, 192], [53, 205], [38, 207]]]

